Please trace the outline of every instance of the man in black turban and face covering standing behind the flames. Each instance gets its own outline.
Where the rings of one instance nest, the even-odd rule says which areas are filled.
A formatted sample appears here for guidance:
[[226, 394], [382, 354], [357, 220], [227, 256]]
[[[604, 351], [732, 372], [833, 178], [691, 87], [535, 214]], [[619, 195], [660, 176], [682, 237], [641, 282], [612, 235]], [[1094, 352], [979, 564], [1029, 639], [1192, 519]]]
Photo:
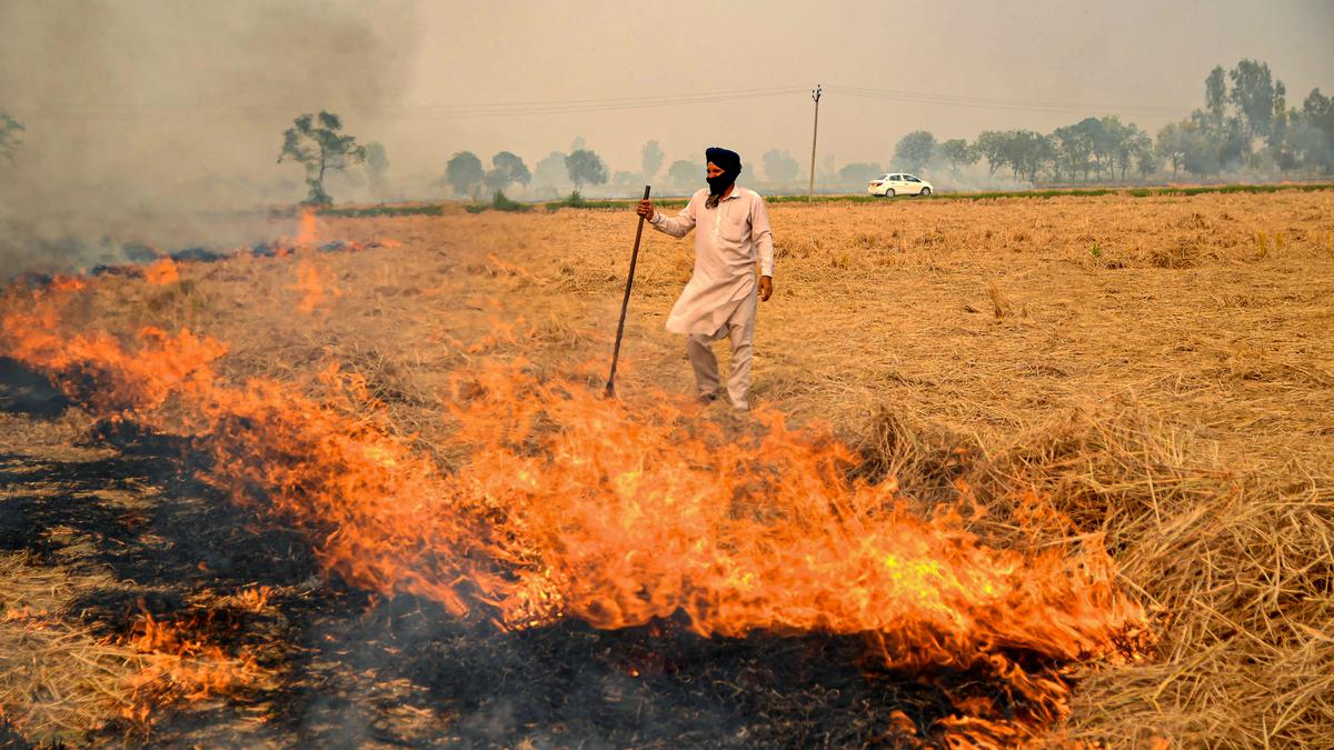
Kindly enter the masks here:
[[732, 372], [727, 396], [739, 410], [750, 408], [751, 342], [755, 338], [756, 284], [759, 299], [774, 294], [774, 232], [768, 228], [764, 199], [736, 187], [742, 157], [735, 151], [712, 147], [704, 151], [708, 190], [699, 190], [674, 218], [640, 200], [636, 212], [655, 230], [674, 238], [695, 232], [695, 272], [671, 308], [667, 330], [686, 334], [686, 354], [695, 368], [699, 400], [718, 398], [718, 359], [712, 343], [727, 338], [732, 344]]

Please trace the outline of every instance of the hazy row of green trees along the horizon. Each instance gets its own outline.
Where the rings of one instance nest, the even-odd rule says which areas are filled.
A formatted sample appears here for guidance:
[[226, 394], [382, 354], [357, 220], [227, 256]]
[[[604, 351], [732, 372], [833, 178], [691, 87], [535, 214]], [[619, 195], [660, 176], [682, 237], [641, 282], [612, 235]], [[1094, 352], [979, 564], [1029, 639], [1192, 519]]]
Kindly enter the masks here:
[[[13, 161], [24, 125], [0, 111], [0, 160]], [[305, 172], [305, 203], [332, 202], [325, 177], [362, 164], [366, 184], [378, 196], [387, 195], [388, 155], [379, 143], [362, 144], [343, 132], [331, 112], [297, 116], [283, 133], [277, 157], [296, 161]], [[636, 188], [655, 181], [666, 155], [656, 140], [644, 143], [638, 169], [611, 171], [583, 137], [568, 152], [552, 151], [528, 168], [512, 151], [499, 151], [490, 165], [471, 151], [459, 151], [444, 164], [438, 187], [471, 199], [492, 198], [511, 185], [532, 187], [551, 196], [558, 191], [611, 184]], [[763, 181], [792, 187], [800, 164], [787, 151], [770, 149], [758, 160]], [[990, 176], [1009, 175], [1026, 181], [1126, 181], [1155, 175], [1181, 173], [1214, 177], [1222, 173], [1329, 175], [1334, 172], [1334, 97], [1314, 88], [1301, 107], [1289, 105], [1287, 88], [1262, 61], [1242, 59], [1231, 69], [1214, 67], [1205, 77], [1203, 107], [1150, 135], [1117, 115], [1085, 117], [1050, 133], [1031, 129], [983, 131], [968, 141], [938, 141], [930, 131], [914, 131], [894, 148], [892, 169], [879, 163], [844, 164], [835, 171], [832, 157], [822, 164], [822, 181], [855, 185], [887, 171], [936, 169], [952, 177], [986, 163]], [[760, 169], [747, 167], [751, 180]], [[943, 175], [942, 175], [943, 176]], [[699, 159], [679, 159], [667, 165], [667, 183], [680, 190], [703, 181]], [[939, 179], [939, 177], [938, 177]], [[578, 198], [574, 195], [572, 198]]]

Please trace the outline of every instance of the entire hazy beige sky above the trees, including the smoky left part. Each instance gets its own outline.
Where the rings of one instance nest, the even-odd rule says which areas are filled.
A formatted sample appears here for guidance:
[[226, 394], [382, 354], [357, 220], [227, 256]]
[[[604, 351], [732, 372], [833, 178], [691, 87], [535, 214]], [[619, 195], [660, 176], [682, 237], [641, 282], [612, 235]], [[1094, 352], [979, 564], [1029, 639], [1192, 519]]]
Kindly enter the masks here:
[[[1241, 57], [1299, 105], [1334, 89], [1331, 39], [1329, 0], [0, 0], [0, 109], [28, 127], [29, 192], [185, 200], [165, 185], [299, 181], [273, 163], [281, 129], [321, 107], [384, 143], [391, 176], [439, 173], [460, 149], [534, 165], [575, 136], [615, 169], [648, 139], [668, 163], [726, 144], [804, 164], [824, 84], [820, 156], [887, 161], [918, 128], [971, 139], [1114, 112], [1153, 132]], [[768, 93], [700, 101], [731, 91]], [[616, 108], [650, 101], [670, 105]]]

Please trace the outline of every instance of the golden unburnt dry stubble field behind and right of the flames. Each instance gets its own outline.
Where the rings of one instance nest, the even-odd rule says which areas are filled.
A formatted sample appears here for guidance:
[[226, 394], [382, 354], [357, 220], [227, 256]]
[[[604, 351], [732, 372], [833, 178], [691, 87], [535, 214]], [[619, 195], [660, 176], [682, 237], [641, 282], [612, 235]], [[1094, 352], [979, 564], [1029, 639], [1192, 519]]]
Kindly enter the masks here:
[[[1106, 534], [1125, 586], [1154, 613], [1151, 657], [1082, 673], [1063, 737], [1329, 743], [1334, 192], [778, 204], [771, 219], [776, 291], [760, 307], [754, 402], [796, 424], [827, 423], [863, 450], [867, 474], [894, 472], [908, 494], [951, 499], [964, 478], [983, 499], [1050, 496], [1073, 534]], [[320, 219], [317, 234], [402, 244], [183, 264], [179, 282], [160, 286], [103, 276], [71, 319], [111, 331], [188, 326], [227, 343], [224, 375], [311, 392], [311, 374], [334, 359], [366, 378], [398, 434], [450, 467], [451, 375], [483, 356], [523, 356], [539, 372], [606, 363], [634, 216], [451, 211]], [[631, 411], [659, 390], [692, 388], [682, 342], [662, 327], [691, 242], [644, 236], [618, 383]], [[747, 430], [746, 418], [712, 410]], [[119, 492], [127, 508], [167, 492], [160, 478], [112, 487], [116, 454], [91, 444], [92, 422], [77, 408], [0, 415], [5, 491], [40, 495], [33, 467], [77, 456], [109, 462], [104, 486], [85, 490]], [[60, 578], [33, 609], [99, 643], [104, 634], [72, 609], [107, 586], [96, 565], [75, 565], [80, 539], [97, 531], [41, 534], [76, 573], [60, 578], [9, 539], [0, 575]], [[117, 603], [143, 595], [117, 585], [129, 590]], [[288, 595], [309, 586], [293, 582]], [[25, 622], [0, 627], [29, 643]], [[60, 657], [45, 658], [60, 669]], [[107, 669], [125, 669], [116, 665]], [[41, 701], [11, 683], [0, 703], [28, 719], [31, 737], [80, 737], [99, 723], [79, 706], [27, 715]], [[408, 741], [426, 737], [403, 729], [414, 721], [367, 719]]]

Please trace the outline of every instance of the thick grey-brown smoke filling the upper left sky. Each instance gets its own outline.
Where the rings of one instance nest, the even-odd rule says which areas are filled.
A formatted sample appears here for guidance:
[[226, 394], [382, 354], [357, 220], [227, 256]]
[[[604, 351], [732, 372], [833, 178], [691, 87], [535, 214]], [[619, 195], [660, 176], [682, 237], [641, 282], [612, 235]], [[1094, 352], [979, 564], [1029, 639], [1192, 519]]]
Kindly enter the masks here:
[[378, 140], [418, 28], [400, 0], [5, 0], [0, 111], [25, 131], [0, 161], [0, 278], [271, 239], [256, 208], [304, 196], [283, 129], [328, 109]]

